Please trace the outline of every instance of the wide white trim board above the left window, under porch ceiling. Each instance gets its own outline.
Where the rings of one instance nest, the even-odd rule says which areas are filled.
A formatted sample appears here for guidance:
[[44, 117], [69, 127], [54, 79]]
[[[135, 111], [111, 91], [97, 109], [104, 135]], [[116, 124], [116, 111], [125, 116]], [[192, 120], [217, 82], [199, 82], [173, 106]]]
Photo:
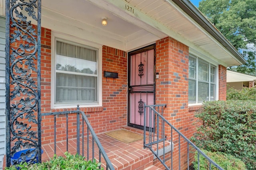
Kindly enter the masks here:
[[[42, 7], [42, 27], [125, 50], [124, 38]], [[112, 43], [112, 44], [110, 44]]]

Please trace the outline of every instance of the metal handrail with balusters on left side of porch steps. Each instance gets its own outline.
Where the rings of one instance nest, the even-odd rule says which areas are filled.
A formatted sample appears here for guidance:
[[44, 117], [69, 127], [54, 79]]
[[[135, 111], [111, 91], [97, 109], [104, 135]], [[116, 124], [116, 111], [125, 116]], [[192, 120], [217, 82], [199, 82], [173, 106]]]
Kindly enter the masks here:
[[101, 156], [104, 158], [106, 162], [106, 170], [114, 170], [114, 166], [110, 162], [104, 148], [102, 147], [100, 140], [98, 139], [96, 133], [94, 132], [88, 118], [84, 114], [83, 111], [79, 110], [79, 105], [77, 106], [77, 110], [73, 111], [64, 111], [64, 112], [50, 112], [50, 113], [42, 113], [42, 116], [54, 115], [54, 154], [56, 154], [56, 115], [66, 114], [66, 150], [68, 151], [68, 114], [77, 114], [76, 116], [76, 152], [80, 154], [80, 114], [82, 116], [82, 156], [84, 156], [84, 122], [87, 126], [87, 160], [89, 160], [89, 134], [92, 136], [92, 159], [94, 159], [94, 143], [98, 146], [99, 149], [99, 162], [101, 162]]

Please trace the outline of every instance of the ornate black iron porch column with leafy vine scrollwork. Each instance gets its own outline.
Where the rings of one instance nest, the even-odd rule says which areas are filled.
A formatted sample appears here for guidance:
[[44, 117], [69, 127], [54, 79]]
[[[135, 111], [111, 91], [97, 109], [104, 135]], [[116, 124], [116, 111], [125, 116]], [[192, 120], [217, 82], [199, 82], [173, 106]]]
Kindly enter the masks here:
[[28, 148], [12, 164], [31, 155], [29, 163], [36, 161], [37, 156], [41, 162], [40, 64], [41, 0], [6, 0], [7, 167], [11, 165], [11, 156]]

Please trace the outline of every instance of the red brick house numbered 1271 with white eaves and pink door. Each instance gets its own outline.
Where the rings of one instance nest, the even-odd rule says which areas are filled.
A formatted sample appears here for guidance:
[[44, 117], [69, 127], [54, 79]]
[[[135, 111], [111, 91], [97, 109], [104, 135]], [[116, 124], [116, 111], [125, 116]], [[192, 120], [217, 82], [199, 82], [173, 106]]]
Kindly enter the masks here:
[[[165, 118], [190, 138], [195, 110], [226, 100], [226, 68], [245, 63], [188, 0], [42, 0], [41, 14], [42, 112], [80, 104], [96, 133], [141, 129], [139, 104], [167, 104]], [[42, 118], [42, 144], [53, 124]]]

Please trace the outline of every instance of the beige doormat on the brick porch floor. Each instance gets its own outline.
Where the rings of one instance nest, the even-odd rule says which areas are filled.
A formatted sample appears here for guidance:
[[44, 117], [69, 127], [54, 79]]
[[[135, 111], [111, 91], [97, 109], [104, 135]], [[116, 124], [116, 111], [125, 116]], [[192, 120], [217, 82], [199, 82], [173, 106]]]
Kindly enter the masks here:
[[106, 132], [105, 134], [126, 144], [143, 139], [142, 135], [124, 129]]

